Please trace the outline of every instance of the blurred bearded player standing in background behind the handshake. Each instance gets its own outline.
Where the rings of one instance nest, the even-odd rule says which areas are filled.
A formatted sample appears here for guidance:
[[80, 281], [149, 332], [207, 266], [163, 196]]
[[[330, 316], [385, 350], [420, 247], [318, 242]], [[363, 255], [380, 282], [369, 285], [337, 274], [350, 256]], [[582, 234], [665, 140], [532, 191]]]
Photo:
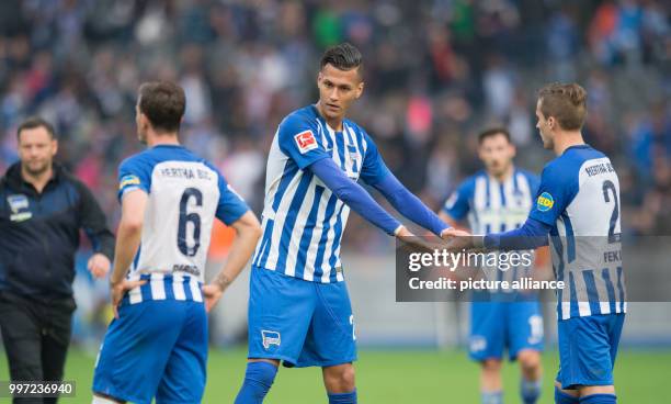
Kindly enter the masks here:
[[[503, 127], [489, 128], [478, 136], [478, 155], [485, 170], [466, 179], [447, 199], [440, 217], [457, 225], [468, 216], [470, 231], [486, 234], [520, 227], [532, 209], [538, 178], [515, 168], [515, 147]], [[527, 268], [494, 270], [498, 280], [531, 276]], [[474, 292], [470, 306], [470, 358], [480, 362], [484, 404], [503, 402], [501, 360], [508, 349], [522, 371], [520, 394], [524, 404], [541, 395], [541, 350], [543, 316], [534, 294], [515, 300], [507, 292]], [[508, 295], [501, 295], [504, 293]]]

